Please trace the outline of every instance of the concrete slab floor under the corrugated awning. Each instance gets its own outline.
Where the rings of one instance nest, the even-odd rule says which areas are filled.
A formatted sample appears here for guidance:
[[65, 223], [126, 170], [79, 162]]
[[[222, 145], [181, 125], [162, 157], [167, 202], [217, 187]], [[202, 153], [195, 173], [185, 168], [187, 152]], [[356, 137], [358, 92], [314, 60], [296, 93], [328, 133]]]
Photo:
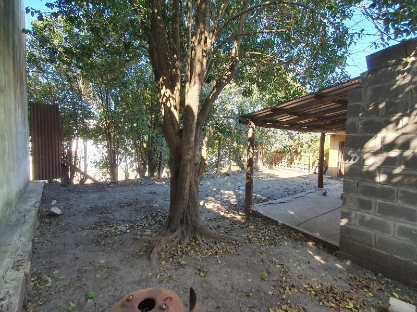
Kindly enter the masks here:
[[[323, 196], [323, 191], [327, 191]], [[339, 247], [343, 183], [254, 205], [253, 210], [290, 228]]]

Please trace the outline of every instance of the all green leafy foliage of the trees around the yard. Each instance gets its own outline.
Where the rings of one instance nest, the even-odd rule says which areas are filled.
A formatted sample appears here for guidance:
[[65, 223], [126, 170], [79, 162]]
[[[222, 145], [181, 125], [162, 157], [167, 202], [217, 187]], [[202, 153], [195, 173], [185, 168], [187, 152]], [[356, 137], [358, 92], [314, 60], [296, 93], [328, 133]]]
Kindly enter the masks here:
[[[161, 44], [167, 42], [168, 54], [179, 43], [181, 90], [185, 89], [183, 68], [191, 52], [187, 50], [187, 2], [179, 1], [179, 42], [173, 36], [176, 2], [161, 3], [165, 32], [150, 27], [152, 12], [145, 0], [55, 0], [45, 4], [51, 13], [26, 9], [27, 14], [38, 17], [32, 31], [23, 30], [29, 34], [30, 102], [59, 103], [65, 141], [93, 139], [102, 147], [101, 161], [111, 176], [121, 163], [126, 168], [135, 163], [137, 171], [154, 166], [155, 155], [164, 150], [161, 103], [152, 79], [155, 72], [149, 65], [147, 31]], [[241, 14], [243, 5], [243, 1], [211, 1], [209, 25], [214, 42], [208, 51], [206, 84], [198, 109], [234, 58], [239, 58], [234, 84], [223, 90], [212, 114], [238, 116], [346, 79], [343, 69], [349, 47], [365, 35], [363, 30], [353, 30], [356, 15], [373, 23], [375, 47], [415, 35], [417, 30], [417, 4], [409, 0], [255, 0], [249, 2], [245, 15]], [[239, 16], [245, 19], [243, 31], [237, 34]], [[193, 20], [191, 27], [195, 26]], [[236, 39], [237, 56], [232, 53]], [[158, 59], [173, 67], [172, 55], [158, 55]], [[183, 105], [182, 93], [179, 128]], [[246, 127], [219, 118], [211, 118], [206, 127], [211, 128], [212, 142], [233, 146], [236, 155], [244, 152]], [[256, 143], [270, 151], [311, 151], [317, 136], [257, 129]], [[209, 146], [211, 154], [215, 154], [214, 146]], [[167, 157], [166, 151], [164, 154]]]

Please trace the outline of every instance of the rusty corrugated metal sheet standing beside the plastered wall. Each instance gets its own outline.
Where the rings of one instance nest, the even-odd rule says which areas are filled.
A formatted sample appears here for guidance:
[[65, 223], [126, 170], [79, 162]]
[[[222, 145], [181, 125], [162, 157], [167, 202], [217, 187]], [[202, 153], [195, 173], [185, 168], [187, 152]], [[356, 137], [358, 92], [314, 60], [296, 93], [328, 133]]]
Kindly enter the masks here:
[[30, 105], [33, 180], [61, 178], [61, 124], [58, 105]]

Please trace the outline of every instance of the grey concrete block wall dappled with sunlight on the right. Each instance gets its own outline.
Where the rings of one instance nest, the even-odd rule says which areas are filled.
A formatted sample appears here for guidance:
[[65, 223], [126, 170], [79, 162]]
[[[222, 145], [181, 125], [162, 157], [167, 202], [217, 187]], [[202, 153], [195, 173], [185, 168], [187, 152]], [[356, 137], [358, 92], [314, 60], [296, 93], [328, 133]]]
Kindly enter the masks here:
[[367, 62], [349, 92], [340, 251], [417, 287], [417, 40]]

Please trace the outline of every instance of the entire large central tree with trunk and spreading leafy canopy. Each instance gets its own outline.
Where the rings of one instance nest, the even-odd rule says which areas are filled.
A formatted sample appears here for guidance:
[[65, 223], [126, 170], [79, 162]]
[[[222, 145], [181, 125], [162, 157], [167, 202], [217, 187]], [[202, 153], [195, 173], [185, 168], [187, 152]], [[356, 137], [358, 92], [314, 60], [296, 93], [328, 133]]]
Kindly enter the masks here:
[[[207, 159], [203, 129], [232, 80], [245, 94], [271, 92], [277, 101], [278, 94], [296, 92], [289, 83], [317, 89], [346, 77], [349, 47], [364, 35], [351, 25], [355, 15], [373, 23], [377, 46], [417, 30], [413, 1], [55, 0], [48, 6], [76, 38], [89, 27], [89, 39], [72, 45], [69, 55], [80, 70], [96, 72], [103, 82], [98, 94], [106, 86], [114, 90], [119, 69], [126, 70], [138, 54], [145, 52], [151, 64], [158, 98], [153, 107], [160, 111], [171, 173], [170, 213], [153, 260], [167, 241], [226, 237], [202, 223], [198, 184]], [[44, 19], [43, 12], [28, 12]], [[101, 71], [108, 67], [114, 73]], [[112, 95], [100, 101], [118, 103]]]

